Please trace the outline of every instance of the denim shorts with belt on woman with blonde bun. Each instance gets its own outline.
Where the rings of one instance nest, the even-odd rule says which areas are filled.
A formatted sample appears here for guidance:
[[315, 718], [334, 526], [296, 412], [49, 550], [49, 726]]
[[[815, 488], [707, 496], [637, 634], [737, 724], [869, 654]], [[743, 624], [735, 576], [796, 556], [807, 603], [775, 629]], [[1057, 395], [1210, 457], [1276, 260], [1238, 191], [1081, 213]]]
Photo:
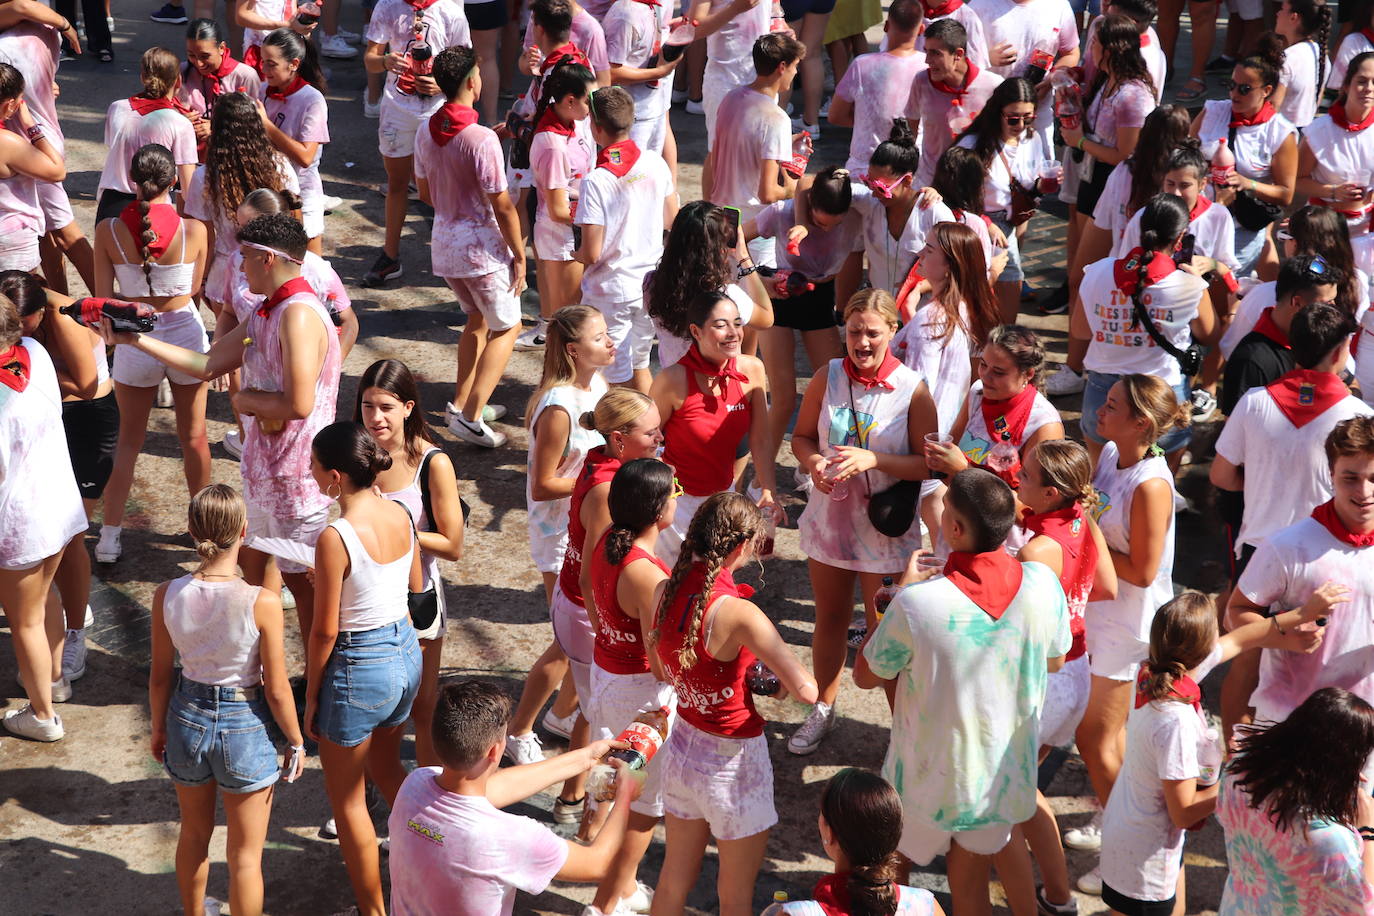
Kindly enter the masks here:
[[261, 688], [243, 699], [235, 687], [181, 678], [168, 705], [162, 765], [181, 786], [214, 781], [225, 792], [267, 788], [278, 780], [276, 747], [284, 744]]

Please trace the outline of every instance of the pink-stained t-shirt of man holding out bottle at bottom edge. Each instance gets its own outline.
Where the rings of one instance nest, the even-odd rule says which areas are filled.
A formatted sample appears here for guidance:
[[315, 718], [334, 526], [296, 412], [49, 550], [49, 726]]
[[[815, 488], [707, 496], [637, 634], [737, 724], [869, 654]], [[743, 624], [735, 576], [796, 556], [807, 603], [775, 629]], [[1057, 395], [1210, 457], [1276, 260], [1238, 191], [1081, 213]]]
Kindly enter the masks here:
[[405, 777], [387, 821], [393, 916], [510, 916], [515, 891], [540, 894], [567, 840], [481, 795], [449, 792], [438, 766]]

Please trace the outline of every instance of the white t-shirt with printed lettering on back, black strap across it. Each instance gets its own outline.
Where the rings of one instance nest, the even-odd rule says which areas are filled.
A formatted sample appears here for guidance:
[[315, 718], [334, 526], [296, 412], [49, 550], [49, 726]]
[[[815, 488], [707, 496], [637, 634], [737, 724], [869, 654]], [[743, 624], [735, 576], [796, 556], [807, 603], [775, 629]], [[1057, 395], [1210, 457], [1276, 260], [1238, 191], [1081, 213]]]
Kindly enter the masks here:
[[[1179, 385], [1183, 380], [1179, 361], [1157, 346], [1135, 320], [1131, 297], [1117, 288], [1114, 264], [1113, 258], [1102, 258], [1083, 271], [1079, 294], [1092, 331], [1083, 365], [1092, 372], [1113, 375], [1158, 375], [1171, 386]], [[1187, 271], [1173, 271], [1146, 287], [1140, 302], [1164, 339], [1179, 350], [1186, 350], [1191, 336], [1189, 321], [1197, 317], [1198, 302], [1205, 291], [1206, 282], [1201, 277]]]

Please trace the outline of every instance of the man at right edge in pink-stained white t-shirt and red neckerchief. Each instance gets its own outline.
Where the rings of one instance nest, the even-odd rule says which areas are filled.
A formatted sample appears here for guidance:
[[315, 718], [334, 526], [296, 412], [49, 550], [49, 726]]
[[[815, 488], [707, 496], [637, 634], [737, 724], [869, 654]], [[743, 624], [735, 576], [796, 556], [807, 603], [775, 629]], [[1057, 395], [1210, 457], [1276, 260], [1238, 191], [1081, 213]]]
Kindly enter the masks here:
[[[1326, 437], [1333, 497], [1276, 531], [1254, 552], [1231, 592], [1227, 623], [1298, 607], [1326, 589], [1348, 600], [1327, 621], [1312, 654], [1270, 652], [1250, 698], [1257, 722], [1287, 718], [1314, 691], [1344, 687], [1374, 700], [1374, 417], [1336, 424]], [[1371, 775], [1366, 765], [1366, 776]]]

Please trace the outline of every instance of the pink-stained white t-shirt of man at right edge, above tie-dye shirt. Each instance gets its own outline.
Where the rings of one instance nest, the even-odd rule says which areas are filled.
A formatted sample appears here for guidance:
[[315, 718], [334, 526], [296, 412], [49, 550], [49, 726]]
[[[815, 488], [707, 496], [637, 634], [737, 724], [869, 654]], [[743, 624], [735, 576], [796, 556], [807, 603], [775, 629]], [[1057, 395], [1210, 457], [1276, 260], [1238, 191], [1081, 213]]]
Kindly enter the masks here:
[[1311, 655], [1265, 650], [1260, 685], [1250, 696], [1254, 721], [1282, 721], [1323, 687], [1344, 687], [1374, 702], [1374, 553], [1336, 540], [1305, 518], [1270, 536], [1254, 552], [1237, 588], [1271, 610], [1301, 607], [1325, 582], [1348, 585], [1351, 600], [1331, 611], [1322, 644]]

